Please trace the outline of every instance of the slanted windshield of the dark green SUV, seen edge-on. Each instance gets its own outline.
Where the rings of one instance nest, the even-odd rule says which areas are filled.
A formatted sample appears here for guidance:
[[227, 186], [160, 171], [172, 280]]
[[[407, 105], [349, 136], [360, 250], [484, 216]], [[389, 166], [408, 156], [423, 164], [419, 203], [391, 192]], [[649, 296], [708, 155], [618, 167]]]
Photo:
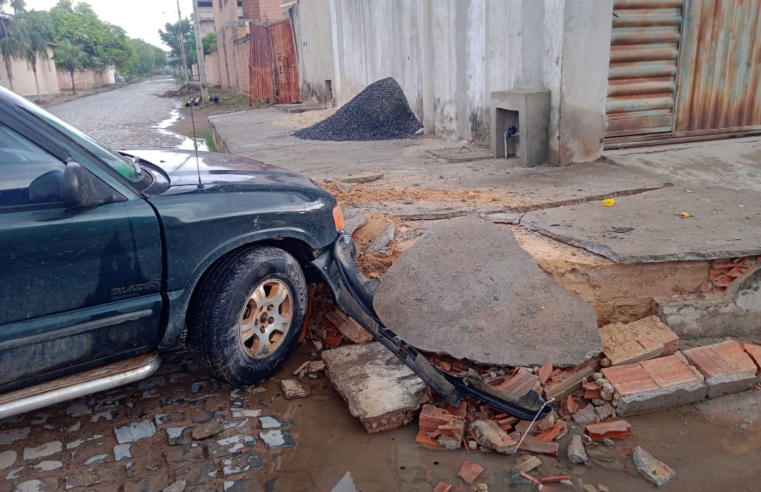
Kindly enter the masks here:
[[59, 120], [47, 111], [44, 111], [34, 104], [28, 102], [26, 99], [21, 97], [14, 97], [13, 99], [14, 103], [18, 107], [41, 119], [46, 124], [53, 127], [55, 130], [63, 133], [66, 137], [73, 140], [77, 145], [84, 148], [86, 151], [111, 166], [130, 182], [140, 183], [143, 181], [143, 173], [141, 172], [140, 166], [136, 161], [133, 161], [128, 157], [121, 156], [116, 152], [112, 152], [106, 147], [103, 147], [98, 142], [80, 132], [73, 126], [62, 120]]

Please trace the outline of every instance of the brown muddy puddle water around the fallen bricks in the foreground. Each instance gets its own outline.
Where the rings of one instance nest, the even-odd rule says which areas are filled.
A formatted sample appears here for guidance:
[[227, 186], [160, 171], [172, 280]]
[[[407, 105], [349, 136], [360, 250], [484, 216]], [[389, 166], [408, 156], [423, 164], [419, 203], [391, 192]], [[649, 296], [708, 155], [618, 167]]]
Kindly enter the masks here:
[[[290, 370], [303, 360], [297, 359]], [[284, 370], [280, 377], [287, 374]], [[508, 490], [517, 456], [427, 449], [414, 442], [415, 423], [368, 435], [327, 379], [314, 383], [319, 384], [312, 386], [306, 399], [273, 402], [276, 413], [290, 415], [296, 422], [296, 447], [274, 460], [270, 475], [276, 478], [274, 490], [429, 492], [444, 481], [454, 485], [453, 491], [464, 492], [470, 489], [457, 477], [457, 470], [465, 459], [485, 468], [477, 481], [486, 483], [490, 491]], [[541, 474], [571, 475], [573, 490], [579, 491], [584, 484], [603, 484], [614, 492], [652, 490], [627, 458], [632, 448], [641, 445], [676, 470], [677, 479], [667, 490], [761, 490], [761, 392], [627, 420], [633, 428], [631, 438], [617, 441], [615, 448], [589, 447], [589, 466], [567, 464], [569, 435], [561, 441], [560, 460], [540, 456]], [[573, 425], [570, 429], [581, 433]], [[572, 490], [553, 487], [544, 490]]]

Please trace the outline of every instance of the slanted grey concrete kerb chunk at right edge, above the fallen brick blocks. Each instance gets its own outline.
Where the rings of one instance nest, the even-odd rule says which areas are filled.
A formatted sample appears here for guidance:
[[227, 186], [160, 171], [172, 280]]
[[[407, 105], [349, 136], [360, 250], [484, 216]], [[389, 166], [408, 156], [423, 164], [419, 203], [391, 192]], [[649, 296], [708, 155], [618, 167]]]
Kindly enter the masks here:
[[723, 298], [657, 304], [660, 319], [682, 338], [754, 336], [761, 329], [761, 270], [734, 282]]

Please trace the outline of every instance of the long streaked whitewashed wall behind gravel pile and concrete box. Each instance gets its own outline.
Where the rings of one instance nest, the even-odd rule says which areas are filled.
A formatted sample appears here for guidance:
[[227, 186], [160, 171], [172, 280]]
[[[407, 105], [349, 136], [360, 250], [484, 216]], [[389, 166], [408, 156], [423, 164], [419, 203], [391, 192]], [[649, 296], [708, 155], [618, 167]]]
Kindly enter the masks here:
[[[339, 105], [392, 76], [426, 132], [488, 145], [491, 92], [549, 89], [550, 163], [601, 155], [612, 0], [326, 1], [329, 24], [324, 2], [299, 1], [296, 32], [330, 35]], [[302, 44], [302, 80], [324, 83], [309, 67], [329, 57]]]

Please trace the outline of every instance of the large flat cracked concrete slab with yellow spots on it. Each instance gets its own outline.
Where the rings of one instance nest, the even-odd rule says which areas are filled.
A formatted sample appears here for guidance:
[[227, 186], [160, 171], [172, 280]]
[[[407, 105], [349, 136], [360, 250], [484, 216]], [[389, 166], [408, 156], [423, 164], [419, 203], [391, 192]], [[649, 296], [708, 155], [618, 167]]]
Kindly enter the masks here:
[[[744, 203], [758, 203], [758, 194], [669, 187], [616, 198], [613, 207], [598, 201], [531, 212], [521, 224], [623, 264], [755, 256], [761, 215], [738, 207]], [[632, 230], [614, 232], [620, 228]]]

